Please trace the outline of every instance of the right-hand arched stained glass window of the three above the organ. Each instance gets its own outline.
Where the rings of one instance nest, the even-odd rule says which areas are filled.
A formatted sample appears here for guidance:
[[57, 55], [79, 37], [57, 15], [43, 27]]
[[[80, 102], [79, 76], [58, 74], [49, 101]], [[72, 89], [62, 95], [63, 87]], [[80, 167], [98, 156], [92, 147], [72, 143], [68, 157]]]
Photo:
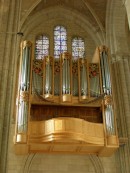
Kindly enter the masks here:
[[81, 37], [74, 37], [72, 39], [72, 56], [74, 59], [85, 56], [84, 40]]

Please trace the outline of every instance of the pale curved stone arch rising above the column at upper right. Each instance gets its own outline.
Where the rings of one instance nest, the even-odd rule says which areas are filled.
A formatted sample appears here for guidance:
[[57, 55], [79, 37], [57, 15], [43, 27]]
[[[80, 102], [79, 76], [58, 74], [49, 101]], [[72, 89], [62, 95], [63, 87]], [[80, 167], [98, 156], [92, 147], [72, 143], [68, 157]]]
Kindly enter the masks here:
[[106, 21], [106, 40], [111, 53], [128, 53], [126, 9], [120, 0], [107, 1]]

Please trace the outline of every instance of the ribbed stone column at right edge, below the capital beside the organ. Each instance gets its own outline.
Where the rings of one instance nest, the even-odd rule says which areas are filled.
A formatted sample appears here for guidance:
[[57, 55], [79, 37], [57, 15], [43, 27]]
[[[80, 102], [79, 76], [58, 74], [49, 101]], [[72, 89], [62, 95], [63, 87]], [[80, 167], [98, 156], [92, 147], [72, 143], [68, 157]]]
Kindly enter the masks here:
[[[112, 61], [113, 96], [119, 139], [130, 139], [130, 68], [129, 56], [114, 55]], [[122, 143], [116, 154], [121, 173], [129, 173], [130, 143]]]

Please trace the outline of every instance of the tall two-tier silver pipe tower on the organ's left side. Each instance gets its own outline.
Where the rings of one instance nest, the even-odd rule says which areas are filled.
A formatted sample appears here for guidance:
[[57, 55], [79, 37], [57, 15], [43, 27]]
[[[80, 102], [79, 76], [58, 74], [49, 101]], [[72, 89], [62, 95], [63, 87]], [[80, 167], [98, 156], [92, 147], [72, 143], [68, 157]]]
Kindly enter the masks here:
[[22, 59], [19, 80], [19, 104], [17, 116], [18, 133], [24, 133], [27, 131], [31, 67], [31, 43], [29, 41], [22, 42], [21, 49]]

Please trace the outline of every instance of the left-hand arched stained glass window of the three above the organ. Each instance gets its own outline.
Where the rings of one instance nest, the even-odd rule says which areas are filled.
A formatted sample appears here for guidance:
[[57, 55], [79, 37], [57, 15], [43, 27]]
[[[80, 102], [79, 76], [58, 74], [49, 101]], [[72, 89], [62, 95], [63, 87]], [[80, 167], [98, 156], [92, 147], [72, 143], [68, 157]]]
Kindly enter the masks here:
[[35, 44], [36, 59], [43, 59], [44, 56], [49, 55], [49, 38], [47, 36], [38, 36]]

